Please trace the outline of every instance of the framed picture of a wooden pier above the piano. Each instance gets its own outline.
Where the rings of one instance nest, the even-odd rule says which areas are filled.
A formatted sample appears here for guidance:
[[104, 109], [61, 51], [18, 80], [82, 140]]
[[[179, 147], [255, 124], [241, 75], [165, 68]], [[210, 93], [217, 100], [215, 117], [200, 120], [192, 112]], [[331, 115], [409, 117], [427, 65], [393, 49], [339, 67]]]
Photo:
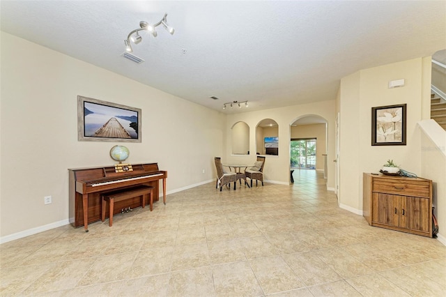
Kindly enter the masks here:
[[141, 109], [77, 96], [79, 142], [141, 142]]

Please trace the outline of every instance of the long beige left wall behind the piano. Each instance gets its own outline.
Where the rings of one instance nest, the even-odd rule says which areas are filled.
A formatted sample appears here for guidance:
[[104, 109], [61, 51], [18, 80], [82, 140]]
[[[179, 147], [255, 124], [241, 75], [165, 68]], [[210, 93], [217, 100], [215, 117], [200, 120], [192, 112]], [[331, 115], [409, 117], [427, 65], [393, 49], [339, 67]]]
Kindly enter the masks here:
[[1, 32], [0, 236], [68, 223], [68, 168], [115, 163], [117, 143], [77, 141], [78, 95], [142, 109], [142, 142], [121, 144], [167, 170], [168, 192], [215, 178], [224, 114]]

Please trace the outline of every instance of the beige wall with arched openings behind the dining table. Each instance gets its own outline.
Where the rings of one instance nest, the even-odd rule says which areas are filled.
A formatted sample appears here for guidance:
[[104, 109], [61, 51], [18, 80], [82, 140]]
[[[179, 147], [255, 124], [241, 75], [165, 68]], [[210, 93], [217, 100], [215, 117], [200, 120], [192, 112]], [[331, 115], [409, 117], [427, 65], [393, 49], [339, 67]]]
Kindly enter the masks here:
[[[257, 112], [229, 114], [226, 117], [226, 133], [231, 132], [231, 127], [234, 123], [244, 121], [249, 125], [249, 146], [251, 148], [249, 151], [255, 152], [256, 144], [259, 141], [261, 141], [263, 145], [263, 138], [258, 135], [259, 133], [254, 132], [256, 131], [256, 126], [263, 119], [272, 119], [276, 121], [278, 124], [277, 136], [279, 137], [279, 155], [266, 156], [263, 173], [267, 181], [289, 184], [291, 124], [305, 116], [321, 116], [325, 119], [328, 123], [328, 160], [332, 160], [334, 158], [334, 108], [335, 100], [328, 100], [275, 109], [264, 109]], [[243, 156], [231, 155], [230, 140], [231, 139], [228, 139], [225, 147], [226, 162], [252, 164], [254, 160], [256, 160], [255, 153]], [[334, 189], [334, 162], [328, 162], [327, 187], [330, 190]]]

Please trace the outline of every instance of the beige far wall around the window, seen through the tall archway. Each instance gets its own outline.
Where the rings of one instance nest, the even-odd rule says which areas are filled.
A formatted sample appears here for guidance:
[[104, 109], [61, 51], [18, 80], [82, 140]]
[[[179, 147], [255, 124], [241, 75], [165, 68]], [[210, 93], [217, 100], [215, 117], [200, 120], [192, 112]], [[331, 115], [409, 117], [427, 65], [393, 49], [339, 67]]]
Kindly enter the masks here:
[[325, 123], [312, 125], [298, 125], [291, 127], [291, 139], [293, 138], [316, 138], [316, 169], [323, 170], [325, 151], [327, 151], [327, 142], [325, 135]]

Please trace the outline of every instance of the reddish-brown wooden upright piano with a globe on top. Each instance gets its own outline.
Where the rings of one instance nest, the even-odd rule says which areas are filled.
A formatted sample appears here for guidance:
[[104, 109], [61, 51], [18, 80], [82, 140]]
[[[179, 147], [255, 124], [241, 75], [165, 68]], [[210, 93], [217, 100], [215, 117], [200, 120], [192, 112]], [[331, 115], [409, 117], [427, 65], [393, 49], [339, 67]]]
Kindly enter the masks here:
[[[158, 169], [157, 163], [116, 166], [68, 169], [70, 174], [69, 215], [70, 223], [74, 227], [83, 225], [85, 231], [88, 231], [89, 223], [101, 219], [102, 192], [125, 190], [137, 185], [150, 185], [153, 187], [153, 201], [158, 201], [160, 197], [159, 181], [162, 179], [162, 197], [166, 204], [167, 172]], [[141, 199], [134, 197], [130, 200], [117, 202], [114, 206], [114, 213], [119, 213], [121, 208], [129, 206], [130, 208], [141, 206]], [[107, 210], [106, 216], [108, 215]]]

